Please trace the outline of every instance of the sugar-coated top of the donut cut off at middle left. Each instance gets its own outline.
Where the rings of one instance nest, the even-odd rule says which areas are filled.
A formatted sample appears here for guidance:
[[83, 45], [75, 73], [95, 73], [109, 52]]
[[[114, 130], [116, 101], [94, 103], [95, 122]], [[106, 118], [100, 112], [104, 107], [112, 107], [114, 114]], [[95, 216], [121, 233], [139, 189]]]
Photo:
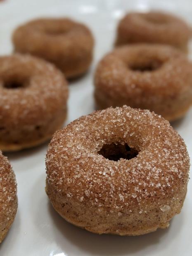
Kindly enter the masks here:
[[0, 57], [0, 123], [49, 120], [67, 98], [67, 82], [52, 64], [30, 55]]

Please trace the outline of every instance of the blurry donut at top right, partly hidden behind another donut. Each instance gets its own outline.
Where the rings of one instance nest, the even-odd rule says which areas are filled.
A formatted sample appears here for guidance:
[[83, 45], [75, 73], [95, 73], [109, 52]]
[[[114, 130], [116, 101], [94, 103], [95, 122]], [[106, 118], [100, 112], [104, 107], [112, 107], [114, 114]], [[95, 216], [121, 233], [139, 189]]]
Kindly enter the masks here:
[[119, 22], [115, 45], [160, 43], [187, 52], [190, 37], [190, 27], [172, 14], [130, 12]]

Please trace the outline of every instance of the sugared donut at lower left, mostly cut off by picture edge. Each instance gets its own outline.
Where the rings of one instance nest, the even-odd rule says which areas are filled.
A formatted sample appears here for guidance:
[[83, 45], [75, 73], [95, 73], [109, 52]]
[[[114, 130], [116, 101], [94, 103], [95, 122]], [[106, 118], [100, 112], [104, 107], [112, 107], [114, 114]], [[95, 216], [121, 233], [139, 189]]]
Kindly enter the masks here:
[[0, 243], [17, 213], [17, 183], [12, 166], [0, 151]]

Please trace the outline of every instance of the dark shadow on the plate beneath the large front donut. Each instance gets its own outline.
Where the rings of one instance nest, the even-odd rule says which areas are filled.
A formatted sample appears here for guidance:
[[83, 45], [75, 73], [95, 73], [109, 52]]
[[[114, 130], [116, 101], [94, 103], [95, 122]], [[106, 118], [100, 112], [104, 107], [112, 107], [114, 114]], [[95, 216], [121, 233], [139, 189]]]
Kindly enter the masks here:
[[[170, 230], [170, 228], [159, 229], [156, 232], [135, 237], [106, 234], [97, 235], [65, 221], [53, 209], [50, 203], [47, 205], [47, 208], [53, 219], [53, 223], [59, 231], [55, 239], [64, 251], [66, 247], [63, 237], [79, 247], [82, 251], [85, 251], [88, 255], [129, 255], [147, 249], [147, 247], [151, 247], [152, 245], [155, 246], [155, 244], [161, 242], [161, 239], [167, 235]], [[167, 239], [166, 241], [168, 243]]]

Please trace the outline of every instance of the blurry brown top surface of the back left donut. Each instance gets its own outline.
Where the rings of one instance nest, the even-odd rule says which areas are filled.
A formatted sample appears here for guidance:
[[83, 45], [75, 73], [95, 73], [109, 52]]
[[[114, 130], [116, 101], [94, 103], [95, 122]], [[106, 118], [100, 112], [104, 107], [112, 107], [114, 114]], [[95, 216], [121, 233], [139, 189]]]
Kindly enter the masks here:
[[[68, 18], [35, 19], [19, 26], [13, 33], [16, 51], [57, 59], [83, 56], [92, 50], [94, 39], [89, 28]], [[33, 42], [33, 43], [31, 43]]]

